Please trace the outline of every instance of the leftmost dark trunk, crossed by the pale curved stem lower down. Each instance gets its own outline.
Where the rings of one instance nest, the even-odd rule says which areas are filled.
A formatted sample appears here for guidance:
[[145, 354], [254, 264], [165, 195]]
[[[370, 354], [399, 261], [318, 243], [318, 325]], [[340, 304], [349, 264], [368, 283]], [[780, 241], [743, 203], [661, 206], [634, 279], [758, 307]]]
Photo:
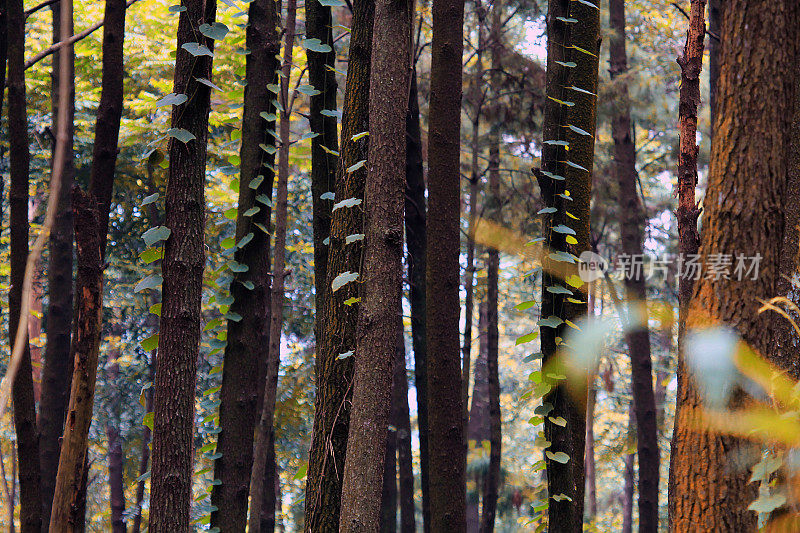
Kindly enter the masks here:
[[[22, 309], [25, 265], [28, 259], [28, 112], [25, 96], [25, 14], [22, 0], [6, 0], [8, 13], [8, 138], [10, 180], [11, 290], [8, 331], [12, 350]], [[33, 397], [33, 374], [27, 336], [14, 379], [14, 426], [19, 460], [20, 525], [22, 532], [39, 533], [42, 524], [39, 436]]]

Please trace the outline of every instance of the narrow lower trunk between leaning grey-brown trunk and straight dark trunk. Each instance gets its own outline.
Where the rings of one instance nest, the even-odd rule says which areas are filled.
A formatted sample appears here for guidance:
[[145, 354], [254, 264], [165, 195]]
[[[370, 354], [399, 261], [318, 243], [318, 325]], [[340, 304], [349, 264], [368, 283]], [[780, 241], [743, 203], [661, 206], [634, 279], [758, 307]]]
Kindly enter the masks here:
[[[402, 312], [402, 311], [401, 311]], [[408, 374], [403, 318], [398, 316], [399, 331], [394, 378], [392, 380], [392, 419], [397, 437], [397, 476], [399, 480], [400, 533], [414, 533], [414, 470], [411, 453], [411, 419], [408, 412]]]

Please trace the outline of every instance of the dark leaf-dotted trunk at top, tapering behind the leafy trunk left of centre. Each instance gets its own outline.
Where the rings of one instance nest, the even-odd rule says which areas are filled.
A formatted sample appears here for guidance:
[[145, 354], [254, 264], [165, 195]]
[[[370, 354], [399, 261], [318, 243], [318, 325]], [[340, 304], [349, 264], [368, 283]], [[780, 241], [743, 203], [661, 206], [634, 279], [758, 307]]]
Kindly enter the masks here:
[[[324, 311], [323, 298], [327, 292], [325, 281], [328, 272], [328, 246], [326, 239], [331, 233], [333, 203], [320, 197], [336, 190], [337, 158], [332, 152], [339, 150], [336, 121], [336, 50], [333, 43], [333, 20], [330, 6], [319, 2], [308, 2], [306, 9], [306, 38], [319, 39], [330, 50], [315, 52], [306, 50], [308, 58], [308, 82], [319, 93], [310, 98], [309, 124], [311, 132], [311, 193], [314, 220], [314, 285], [316, 309]], [[326, 111], [323, 114], [323, 111]], [[324, 148], [323, 148], [324, 147]], [[327, 150], [326, 150], [327, 149]], [[316, 328], [322, 325], [317, 314]], [[319, 331], [317, 331], [319, 335]]]

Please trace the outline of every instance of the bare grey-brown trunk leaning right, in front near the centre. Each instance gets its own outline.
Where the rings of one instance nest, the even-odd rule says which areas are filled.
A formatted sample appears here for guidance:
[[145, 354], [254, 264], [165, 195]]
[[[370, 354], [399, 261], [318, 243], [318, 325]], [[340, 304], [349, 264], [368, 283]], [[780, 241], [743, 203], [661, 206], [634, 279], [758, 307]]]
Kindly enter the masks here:
[[[397, 351], [403, 283], [403, 191], [411, 51], [411, 3], [375, 5], [369, 92], [364, 260], [358, 306], [353, 405], [344, 464], [342, 533], [375, 531], [380, 513], [385, 428]], [[398, 101], [398, 95], [400, 99]]]

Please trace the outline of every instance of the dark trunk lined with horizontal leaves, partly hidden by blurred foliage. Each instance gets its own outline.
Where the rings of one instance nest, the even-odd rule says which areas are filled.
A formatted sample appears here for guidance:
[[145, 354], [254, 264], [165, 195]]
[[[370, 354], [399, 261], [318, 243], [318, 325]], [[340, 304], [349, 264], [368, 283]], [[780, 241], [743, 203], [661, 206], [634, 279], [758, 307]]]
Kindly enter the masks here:
[[[574, 18], [578, 22], [567, 23], [558, 17]], [[590, 249], [589, 201], [596, 126], [594, 93], [597, 92], [597, 54], [600, 44], [599, 6], [594, 2], [550, 0], [547, 36], [546, 90], [549, 98], [544, 109], [542, 169], [536, 174], [545, 205], [555, 208], [556, 212], [545, 216], [544, 244], [549, 252], [566, 251], [580, 255]], [[575, 66], [570, 68], [564, 66], [565, 63], [575, 63]], [[568, 125], [580, 132], [570, 129]], [[568, 153], [564, 143], [568, 143]], [[566, 161], [571, 165], [567, 165]], [[549, 176], [565, 179], [552, 179]], [[565, 191], [569, 191], [571, 201], [565, 199]], [[567, 216], [567, 208], [578, 220]], [[575, 232], [573, 239], [576, 242], [568, 246], [564, 234], [552, 231], [556, 225], [571, 228]], [[556, 337], [565, 335], [567, 326], [561, 321], [574, 323], [586, 313], [586, 304], [567, 302], [563, 294], [552, 294], [547, 290], [552, 285], [563, 283], [559, 274], [574, 273], [574, 264], [560, 262], [552, 256], [545, 258], [544, 263], [546, 272], [542, 283], [541, 316], [556, 317], [560, 324], [557, 328], [541, 326], [542, 353], [545, 363], [548, 363], [556, 352]], [[583, 286], [576, 294], [583, 296], [585, 291]], [[580, 297], [575, 299], [580, 300]], [[563, 452], [569, 456], [569, 460], [564, 464], [545, 457], [550, 496], [548, 521], [550, 524], [560, 524], [564, 531], [577, 532], [583, 529], [585, 398], [570, 398], [566, 389], [558, 383], [551, 383], [551, 387], [551, 392], [545, 397], [545, 401], [553, 406], [544, 422], [545, 437], [552, 443], [549, 449], [551, 454]], [[565, 426], [552, 422], [558, 417], [566, 420]], [[559, 498], [560, 501], [553, 499], [559, 495], [568, 498]]]

